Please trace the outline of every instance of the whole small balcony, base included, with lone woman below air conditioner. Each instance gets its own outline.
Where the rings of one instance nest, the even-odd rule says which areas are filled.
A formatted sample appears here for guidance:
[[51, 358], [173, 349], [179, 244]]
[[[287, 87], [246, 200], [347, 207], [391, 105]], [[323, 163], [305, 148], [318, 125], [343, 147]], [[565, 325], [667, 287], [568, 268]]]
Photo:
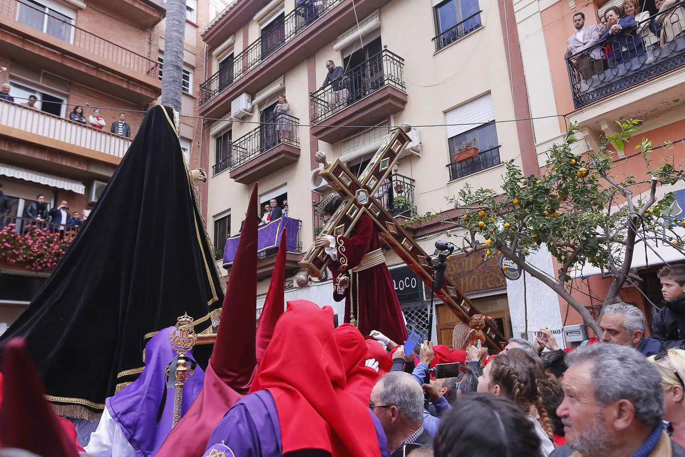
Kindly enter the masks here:
[[259, 127], [232, 141], [227, 166], [229, 176], [250, 184], [297, 162], [300, 155], [299, 119], [279, 114], [273, 123]]

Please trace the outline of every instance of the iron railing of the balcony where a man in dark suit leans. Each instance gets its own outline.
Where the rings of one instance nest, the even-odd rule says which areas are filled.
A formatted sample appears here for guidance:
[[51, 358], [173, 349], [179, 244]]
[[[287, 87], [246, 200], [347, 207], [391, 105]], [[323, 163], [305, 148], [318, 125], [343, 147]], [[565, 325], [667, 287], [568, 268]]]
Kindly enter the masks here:
[[404, 59], [388, 49], [349, 69], [339, 80], [310, 94], [312, 124], [327, 119], [385, 86], [406, 90], [403, 70]]

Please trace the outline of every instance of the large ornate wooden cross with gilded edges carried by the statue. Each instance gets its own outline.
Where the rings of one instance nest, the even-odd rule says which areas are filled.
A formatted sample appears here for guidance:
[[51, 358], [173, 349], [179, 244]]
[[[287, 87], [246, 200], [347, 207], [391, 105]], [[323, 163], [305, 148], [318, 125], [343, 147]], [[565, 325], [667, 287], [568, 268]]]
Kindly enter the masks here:
[[[322, 235], [350, 236], [362, 214], [368, 214], [379, 229], [379, 236], [393, 251], [423, 280], [427, 287], [433, 286], [432, 272], [429, 266], [429, 254], [395, 221], [393, 215], [384, 208], [382, 202], [375, 198], [384, 184], [403, 149], [410, 143], [410, 138], [401, 129], [395, 129], [386, 139], [375, 156], [357, 179], [340, 159], [328, 162], [325, 154], [316, 153], [316, 162], [324, 165], [319, 175], [330, 186], [338, 191], [345, 200], [335, 214], [323, 227]], [[330, 257], [321, 247], [312, 245], [299, 262], [299, 266], [308, 269], [312, 276], [322, 277]], [[443, 288], [435, 291], [436, 297], [449, 306], [459, 319], [468, 323], [471, 316], [481, 314], [471, 300], [462, 294], [457, 286], [445, 277]], [[505, 343], [504, 336], [494, 323], [486, 319], [483, 333], [486, 344], [495, 351], [500, 351]]]

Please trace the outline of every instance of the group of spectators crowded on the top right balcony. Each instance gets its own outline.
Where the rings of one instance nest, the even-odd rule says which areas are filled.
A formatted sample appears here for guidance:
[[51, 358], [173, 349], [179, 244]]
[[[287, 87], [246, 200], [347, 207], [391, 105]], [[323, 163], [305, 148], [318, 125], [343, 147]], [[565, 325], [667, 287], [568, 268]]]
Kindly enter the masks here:
[[564, 57], [587, 79], [638, 56], [656, 60], [661, 47], [683, 36], [685, 7], [678, 0], [656, 0], [650, 16], [639, 0], [610, 6], [597, 25], [585, 25], [582, 12], [573, 14], [575, 33], [567, 40]]

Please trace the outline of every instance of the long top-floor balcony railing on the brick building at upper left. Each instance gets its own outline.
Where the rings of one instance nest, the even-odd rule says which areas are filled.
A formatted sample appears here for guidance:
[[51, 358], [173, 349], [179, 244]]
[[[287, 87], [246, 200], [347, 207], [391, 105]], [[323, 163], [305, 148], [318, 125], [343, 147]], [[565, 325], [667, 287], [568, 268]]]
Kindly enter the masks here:
[[157, 79], [157, 62], [154, 60], [78, 27], [71, 21], [67, 21], [67, 16], [52, 10], [36, 8], [36, 3], [32, 1], [0, 0], [0, 17], [5, 21], [10, 19], [22, 23], [38, 32], [74, 45], [82, 51]]

